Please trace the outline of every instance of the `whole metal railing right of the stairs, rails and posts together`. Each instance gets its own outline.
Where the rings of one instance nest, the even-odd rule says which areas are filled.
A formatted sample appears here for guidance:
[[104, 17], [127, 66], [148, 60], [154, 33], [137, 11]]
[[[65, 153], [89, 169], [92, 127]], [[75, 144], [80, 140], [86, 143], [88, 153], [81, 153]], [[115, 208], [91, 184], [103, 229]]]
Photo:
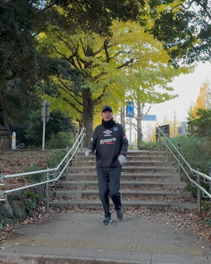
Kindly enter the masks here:
[[[175, 160], [177, 160], [177, 162], [178, 162], [178, 181], [181, 182], [181, 169], [182, 169], [184, 174], [188, 177], [188, 179], [192, 183], [193, 187], [197, 187], [198, 211], [201, 212], [201, 207], [202, 207], [201, 198], [202, 198], [202, 194], [203, 194], [203, 197], [210, 198], [210, 205], [211, 205], [211, 167], [209, 167], [210, 176], [206, 175], [205, 173], [200, 172], [200, 164], [199, 163], [196, 164], [196, 167], [197, 167], [196, 170], [193, 169], [192, 167], [190, 167], [188, 162], [181, 155], [181, 153], [180, 153], [180, 150], [181, 150], [180, 143], [178, 143], [178, 148], [176, 148], [175, 145], [173, 145], [173, 143], [169, 140], [169, 138], [165, 135], [165, 133], [159, 127], [156, 128], [156, 135], [159, 138], [159, 150], [161, 150], [161, 141], [166, 146], [166, 160], [169, 161], [169, 151], [170, 151], [171, 154], [173, 155], [173, 158]], [[170, 146], [177, 153], [177, 155], [175, 155], [173, 153], [173, 151], [171, 150]], [[188, 169], [190, 170], [190, 172], [192, 173], [193, 176], [197, 176], [197, 182], [194, 181], [193, 179], [191, 179], [191, 177], [189, 176], [188, 172], [184, 168], [184, 165], [182, 165], [181, 161], [184, 162], [184, 164], [188, 167]], [[207, 190], [201, 186], [201, 178], [202, 177], [204, 179], [204, 183], [210, 185], [210, 193], [207, 192]], [[208, 180], [208, 181], [206, 181], [206, 180]], [[204, 194], [206, 194], [206, 195], [204, 195]]]

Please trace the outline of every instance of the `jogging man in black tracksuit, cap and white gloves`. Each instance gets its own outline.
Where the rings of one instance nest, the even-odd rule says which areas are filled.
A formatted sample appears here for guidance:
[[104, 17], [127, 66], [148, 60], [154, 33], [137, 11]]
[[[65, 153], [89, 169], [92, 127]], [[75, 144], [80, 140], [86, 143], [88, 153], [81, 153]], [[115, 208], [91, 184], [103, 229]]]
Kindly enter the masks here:
[[119, 190], [121, 166], [126, 162], [128, 140], [122, 125], [113, 120], [110, 106], [103, 106], [101, 116], [102, 124], [95, 128], [85, 155], [89, 156], [96, 150], [98, 187], [105, 211], [103, 224], [109, 225], [111, 222], [109, 196], [115, 204], [118, 220], [121, 221], [123, 218]]

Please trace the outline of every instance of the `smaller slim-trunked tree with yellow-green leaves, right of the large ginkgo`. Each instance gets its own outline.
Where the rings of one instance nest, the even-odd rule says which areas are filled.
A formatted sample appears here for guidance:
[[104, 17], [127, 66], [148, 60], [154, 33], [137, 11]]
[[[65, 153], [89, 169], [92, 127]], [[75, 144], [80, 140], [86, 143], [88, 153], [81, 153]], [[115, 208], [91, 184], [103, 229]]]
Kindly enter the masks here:
[[[131, 123], [129, 120], [127, 123], [137, 131], [137, 145], [141, 145], [143, 138], [142, 119], [148, 114], [152, 105], [178, 97], [177, 94], [172, 94], [173, 87], [169, 83], [175, 76], [179, 76], [181, 73], [186, 74], [192, 70], [188, 67], [174, 69], [167, 63], [168, 56], [159, 45], [157, 45], [154, 55], [156, 55], [156, 60], [150, 62], [150, 67], [134, 74], [134, 82], [130, 90], [137, 114], [135, 113], [136, 123]], [[148, 104], [151, 105], [144, 109]]]

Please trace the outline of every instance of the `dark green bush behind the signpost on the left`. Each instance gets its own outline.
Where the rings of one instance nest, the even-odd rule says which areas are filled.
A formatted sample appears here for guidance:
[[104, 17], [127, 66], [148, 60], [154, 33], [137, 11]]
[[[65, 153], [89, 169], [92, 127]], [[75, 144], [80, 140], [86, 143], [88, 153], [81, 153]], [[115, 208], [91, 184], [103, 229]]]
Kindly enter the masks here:
[[[28, 118], [28, 126], [25, 130], [26, 139], [29, 144], [42, 145], [42, 128], [41, 109], [32, 112]], [[76, 132], [76, 126], [72, 123], [72, 118], [62, 114], [60, 110], [53, 110], [50, 113], [50, 119], [45, 124], [45, 141], [57, 135], [59, 132]]]

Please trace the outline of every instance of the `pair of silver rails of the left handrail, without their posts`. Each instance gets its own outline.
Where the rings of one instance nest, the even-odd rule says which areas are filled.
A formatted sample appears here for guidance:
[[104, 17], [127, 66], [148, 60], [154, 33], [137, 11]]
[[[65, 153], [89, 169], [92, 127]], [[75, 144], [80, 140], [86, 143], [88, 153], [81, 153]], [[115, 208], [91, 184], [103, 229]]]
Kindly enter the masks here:
[[[67, 154], [64, 156], [64, 158], [62, 159], [62, 161], [59, 163], [59, 165], [56, 168], [45, 169], [45, 170], [37, 170], [37, 171], [33, 171], [33, 172], [16, 173], [16, 174], [11, 174], [11, 175], [3, 175], [3, 176], [0, 177], [0, 181], [7, 180], [7, 179], [10, 179], [10, 178], [15, 178], [15, 177], [21, 177], [21, 176], [27, 176], [27, 175], [33, 175], [33, 174], [40, 174], [40, 173], [43, 173], [43, 172], [47, 172], [47, 173], [53, 172], [54, 173], [55, 171], [59, 170], [59, 168], [62, 165], [62, 163], [64, 162], [64, 160], [67, 160], [67, 157], [69, 156], [70, 152], [73, 150], [73, 148], [75, 147], [75, 145], [79, 141], [78, 144], [77, 144], [77, 147], [75, 148], [75, 150], [72, 153], [72, 156], [69, 158], [69, 160], [67, 160], [66, 165], [64, 166], [64, 168], [62, 169], [62, 171], [59, 173], [59, 175], [57, 176], [57, 178], [54, 178], [52, 180], [46, 180], [46, 181], [39, 182], [39, 183], [35, 183], [35, 184], [31, 184], [31, 185], [27, 185], [27, 186], [23, 186], [23, 187], [19, 187], [19, 188], [16, 188], [16, 189], [6, 190], [6, 191], [3, 191], [3, 192], [0, 193], [0, 197], [6, 195], [8, 193], [17, 192], [17, 191], [20, 191], [20, 190], [23, 190], [23, 189], [27, 189], [27, 188], [30, 188], [30, 187], [35, 187], [35, 186], [38, 186], [38, 185], [42, 185], [42, 184], [46, 184], [46, 183], [50, 183], [50, 182], [57, 181], [60, 178], [60, 176], [62, 175], [62, 173], [64, 172], [64, 170], [66, 169], [66, 167], [69, 165], [69, 162], [74, 157], [74, 154], [78, 150], [78, 146], [83, 141], [83, 138], [86, 136], [86, 133], [85, 132], [86, 132], [86, 128], [82, 128], [81, 129], [81, 133], [76, 138], [75, 143], [72, 145], [72, 147], [69, 149], [69, 151], [67, 152]], [[79, 138], [80, 138], [80, 140], [79, 140]], [[0, 200], [5, 200], [5, 199], [0, 199]]]

